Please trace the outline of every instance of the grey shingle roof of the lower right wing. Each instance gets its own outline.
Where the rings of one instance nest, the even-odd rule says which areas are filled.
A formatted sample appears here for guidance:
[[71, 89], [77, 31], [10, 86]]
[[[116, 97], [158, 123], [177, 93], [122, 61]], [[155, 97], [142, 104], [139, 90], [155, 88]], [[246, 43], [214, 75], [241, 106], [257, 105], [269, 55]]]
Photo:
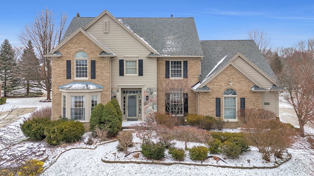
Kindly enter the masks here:
[[[204, 58], [202, 60], [200, 82], [211, 77], [215, 72], [230, 62], [233, 56], [237, 53], [243, 54], [268, 76], [273, 79], [275, 78], [274, 72], [253, 40], [201, 41], [201, 45], [204, 52]], [[223, 58], [224, 60], [222, 61]], [[219, 61], [221, 63], [217, 66]], [[216, 68], [213, 70], [215, 66]], [[210, 71], [212, 71], [211, 74], [209, 74]]]

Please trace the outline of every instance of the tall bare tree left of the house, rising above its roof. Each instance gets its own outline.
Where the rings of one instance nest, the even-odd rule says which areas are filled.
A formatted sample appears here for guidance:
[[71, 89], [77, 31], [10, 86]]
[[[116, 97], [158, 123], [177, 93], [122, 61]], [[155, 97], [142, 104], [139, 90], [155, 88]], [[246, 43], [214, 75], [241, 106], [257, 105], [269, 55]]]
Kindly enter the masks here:
[[27, 45], [31, 41], [41, 64], [41, 79], [38, 80], [43, 89], [47, 91], [47, 100], [51, 100], [52, 88], [51, 59], [44, 57], [58, 43], [65, 32], [67, 15], [60, 14], [59, 24], [56, 23], [55, 14], [47, 7], [36, 15], [34, 22], [26, 24], [19, 35], [22, 44]]

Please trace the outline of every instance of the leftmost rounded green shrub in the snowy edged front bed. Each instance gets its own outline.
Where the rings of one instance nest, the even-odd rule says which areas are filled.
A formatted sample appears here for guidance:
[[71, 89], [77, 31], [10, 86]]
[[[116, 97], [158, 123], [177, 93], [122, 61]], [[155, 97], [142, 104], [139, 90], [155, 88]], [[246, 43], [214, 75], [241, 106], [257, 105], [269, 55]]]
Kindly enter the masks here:
[[142, 154], [149, 159], [162, 159], [165, 147], [161, 143], [144, 142], [141, 145]]

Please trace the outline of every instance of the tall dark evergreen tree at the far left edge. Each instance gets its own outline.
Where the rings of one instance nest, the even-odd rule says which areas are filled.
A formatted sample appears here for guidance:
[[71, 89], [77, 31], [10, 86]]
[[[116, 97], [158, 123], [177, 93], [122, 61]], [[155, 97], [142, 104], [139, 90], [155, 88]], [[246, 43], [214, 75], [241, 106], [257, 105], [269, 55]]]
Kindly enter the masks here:
[[7, 96], [12, 90], [18, 86], [16, 74], [15, 50], [7, 39], [0, 47], [0, 79], [4, 96]]

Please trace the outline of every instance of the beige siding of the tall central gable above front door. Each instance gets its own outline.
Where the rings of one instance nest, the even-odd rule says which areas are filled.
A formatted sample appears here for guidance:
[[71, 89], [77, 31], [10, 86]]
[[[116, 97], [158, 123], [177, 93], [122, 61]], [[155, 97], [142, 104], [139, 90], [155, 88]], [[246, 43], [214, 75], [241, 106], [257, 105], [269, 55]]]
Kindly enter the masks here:
[[[104, 21], [109, 22], [108, 33], [104, 33]], [[119, 84], [145, 84], [144, 87], [156, 87], [156, 58], [147, 58], [151, 51], [126, 29], [105, 14], [86, 31], [116, 55], [111, 61], [112, 88], [117, 88]], [[119, 60], [124, 59], [124, 56], [138, 56], [138, 59], [143, 60], [143, 76], [119, 76]]]

